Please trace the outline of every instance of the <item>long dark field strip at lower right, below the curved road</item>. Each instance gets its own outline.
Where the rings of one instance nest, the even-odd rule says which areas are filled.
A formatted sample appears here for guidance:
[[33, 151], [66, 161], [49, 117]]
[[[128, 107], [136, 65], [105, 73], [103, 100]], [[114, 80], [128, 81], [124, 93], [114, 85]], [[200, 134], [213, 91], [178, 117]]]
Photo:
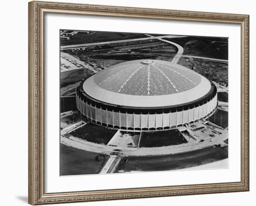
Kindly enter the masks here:
[[209, 147], [200, 151], [166, 156], [126, 157], [127, 163], [124, 164], [124, 161], [121, 161], [116, 172], [119, 169], [124, 170], [124, 172], [177, 170], [200, 166], [226, 158], [228, 158], [228, 152], [221, 147]]

